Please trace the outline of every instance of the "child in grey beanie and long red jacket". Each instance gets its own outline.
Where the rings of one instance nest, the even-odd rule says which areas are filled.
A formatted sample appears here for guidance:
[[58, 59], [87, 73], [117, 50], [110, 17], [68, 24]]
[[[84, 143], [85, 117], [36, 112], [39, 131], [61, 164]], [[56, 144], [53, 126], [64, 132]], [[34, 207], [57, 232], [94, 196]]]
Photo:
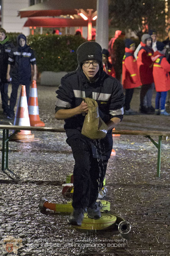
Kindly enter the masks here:
[[[140, 112], [144, 114], [153, 114], [155, 109], [152, 107], [152, 94], [150, 94], [150, 101], [147, 107], [144, 106], [144, 97], [147, 91], [152, 89], [153, 83], [153, 62], [152, 62], [152, 38], [149, 34], [142, 35], [141, 48], [137, 54], [137, 67], [140, 75], [142, 88], [140, 91]], [[153, 91], [153, 90], [152, 90]]]

